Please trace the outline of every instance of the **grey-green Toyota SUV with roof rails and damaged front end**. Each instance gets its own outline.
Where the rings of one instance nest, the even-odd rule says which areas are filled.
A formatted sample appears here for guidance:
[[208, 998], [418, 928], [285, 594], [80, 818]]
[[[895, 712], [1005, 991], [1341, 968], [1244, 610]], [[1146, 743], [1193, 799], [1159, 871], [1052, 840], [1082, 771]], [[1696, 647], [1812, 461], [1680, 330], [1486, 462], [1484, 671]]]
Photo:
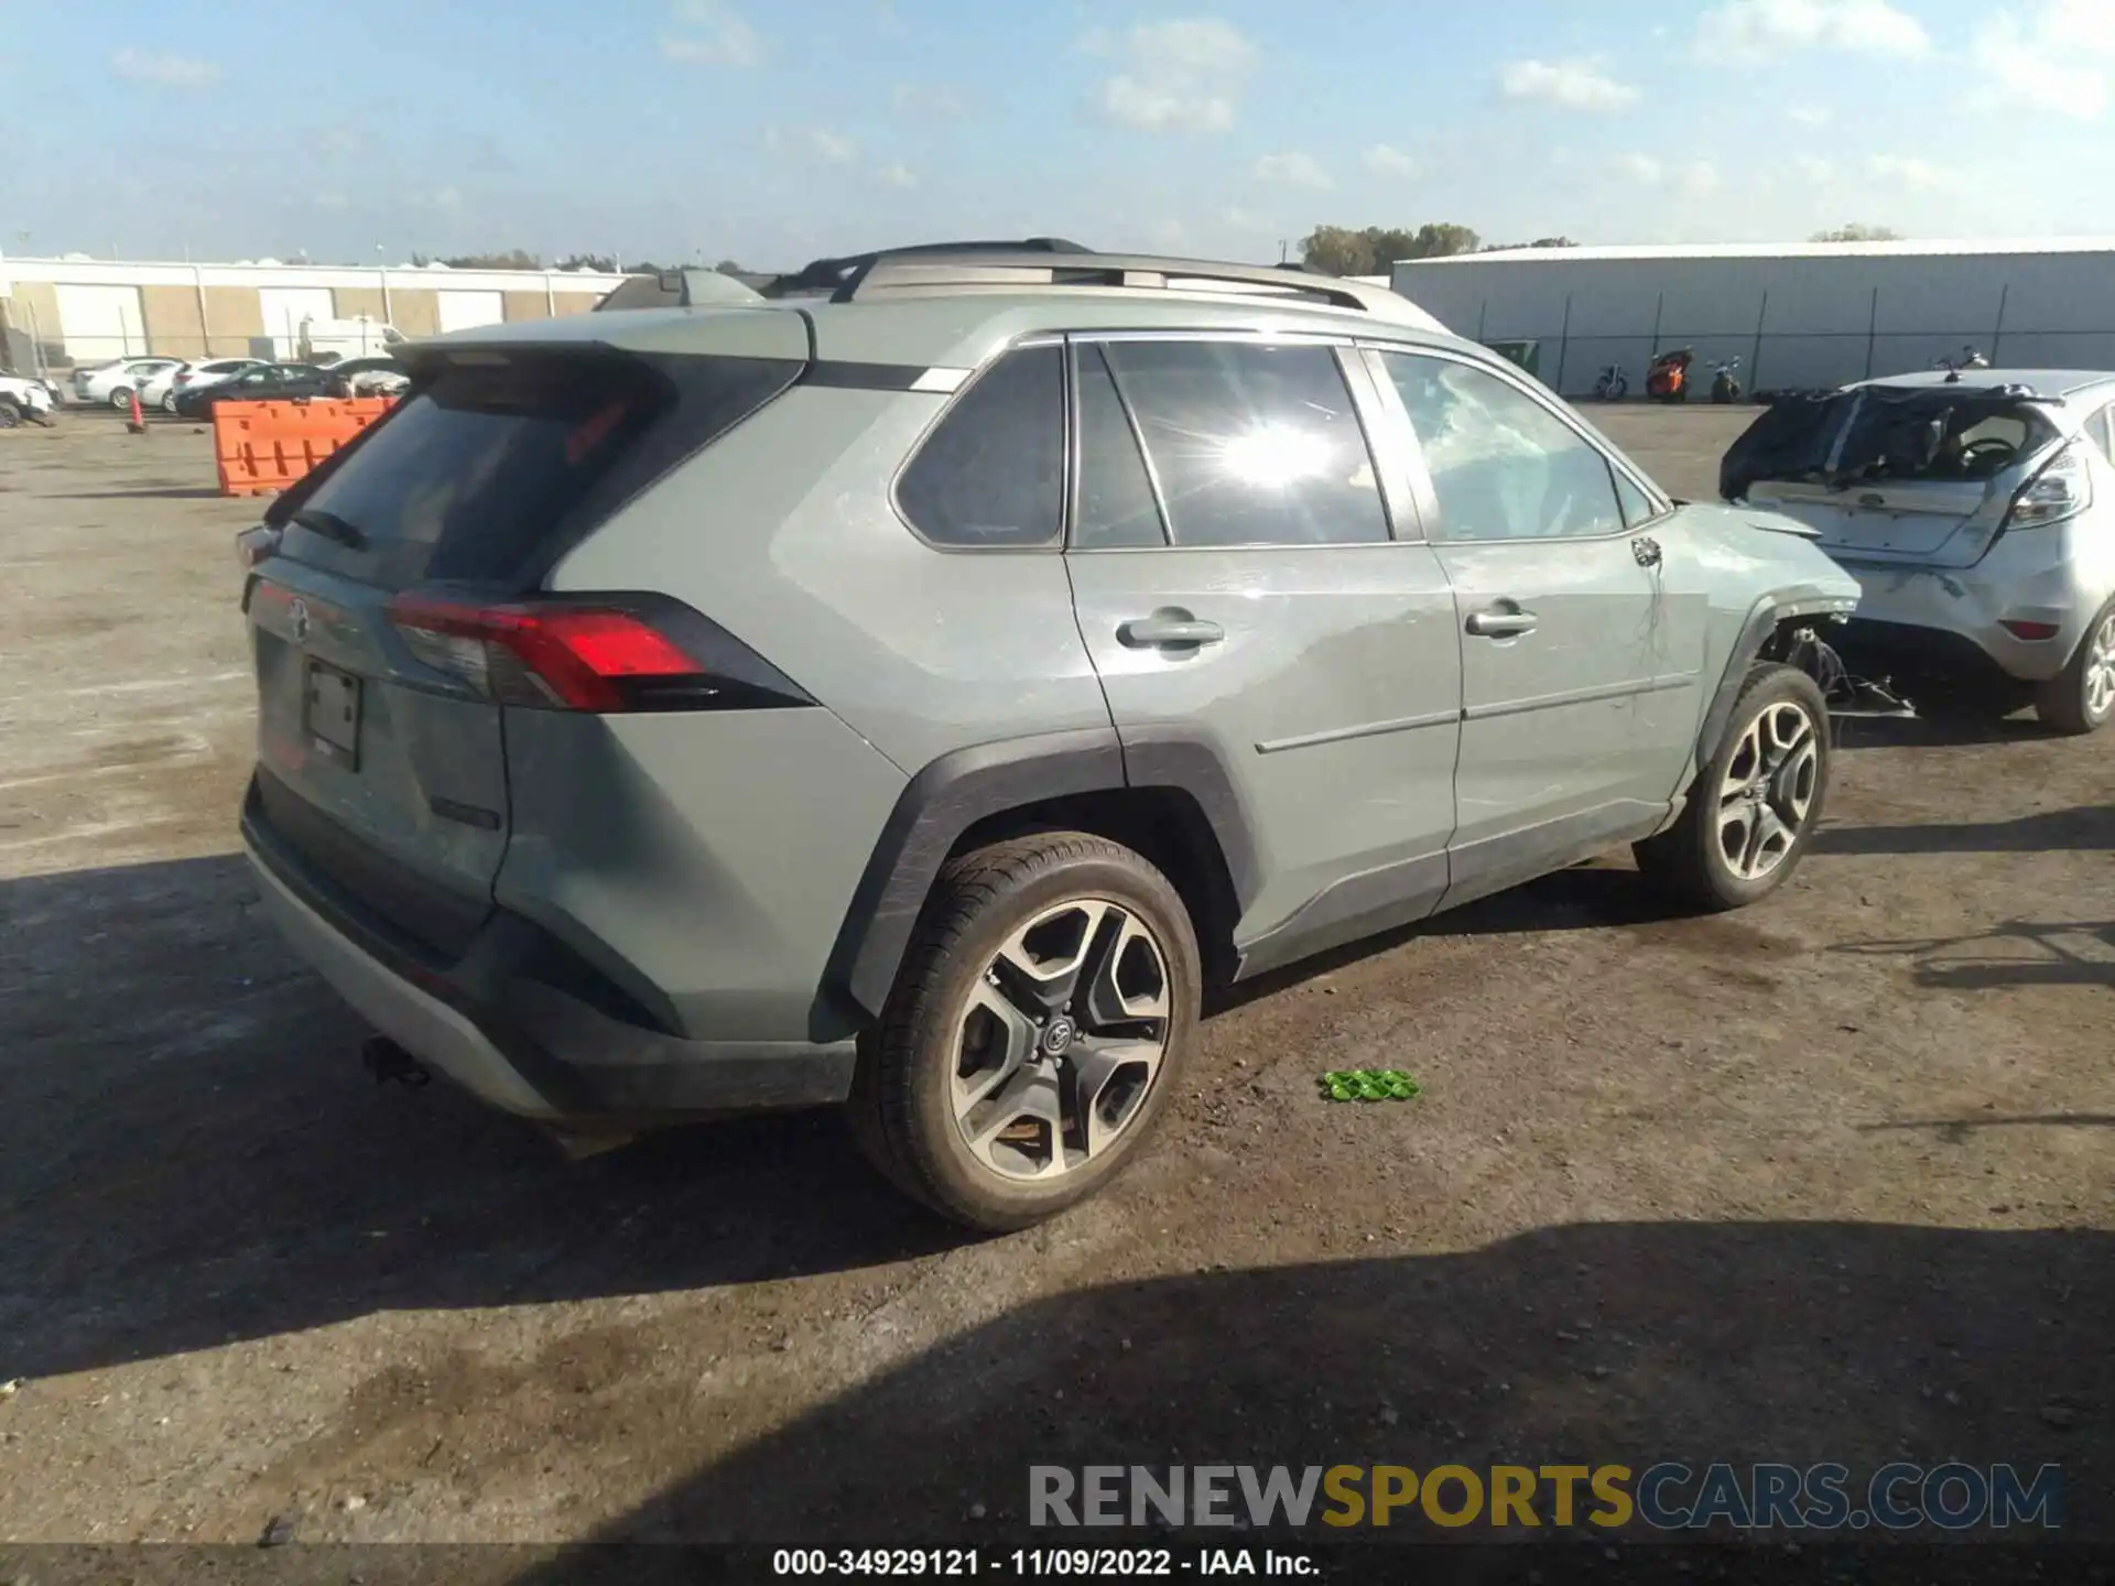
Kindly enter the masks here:
[[1821, 812], [1857, 584], [1383, 290], [914, 250], [404, 357], [245, 535], [243, 835], [370, 1062], [563, 1131], [848, 1104], [1019, 1227], [1206, 983]]

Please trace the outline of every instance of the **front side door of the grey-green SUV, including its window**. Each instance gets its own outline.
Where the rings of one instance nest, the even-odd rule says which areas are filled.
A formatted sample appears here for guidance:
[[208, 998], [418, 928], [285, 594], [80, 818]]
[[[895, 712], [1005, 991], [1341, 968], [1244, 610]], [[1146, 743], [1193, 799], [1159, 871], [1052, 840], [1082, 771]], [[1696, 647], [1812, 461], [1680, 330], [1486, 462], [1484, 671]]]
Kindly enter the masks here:
[[1700, 715], [1675, 664], [1643, 499], [1555, 406], [1478, 364], [1381, 353], [1417, 434], [1453, 584], [1461, 763], [1447, 903], [1495, 892], [1669, 812]]

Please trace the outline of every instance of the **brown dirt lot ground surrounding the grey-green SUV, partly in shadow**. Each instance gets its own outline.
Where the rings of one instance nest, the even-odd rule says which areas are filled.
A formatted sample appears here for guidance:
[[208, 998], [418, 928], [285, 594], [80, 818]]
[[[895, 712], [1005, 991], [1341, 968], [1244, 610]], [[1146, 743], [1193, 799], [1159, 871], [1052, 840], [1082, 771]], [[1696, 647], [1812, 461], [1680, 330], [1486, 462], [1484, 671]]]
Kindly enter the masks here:
[[[1709, 493], [1739, 417], [1605, 423]], [[1121, 1186], [962, 1241], [829, 1117], [567, 1165], [362, 1074], [235, 856], [209, 484], [190, 425], [0, 434], [0, 1539], [939, 1539], [1030, 1463], [1495, 1457], [2062, 1461], [2115, 1535], [2115, 734], [1861, 727], [1755, 911], [1614, 859], [1273, 979]]]

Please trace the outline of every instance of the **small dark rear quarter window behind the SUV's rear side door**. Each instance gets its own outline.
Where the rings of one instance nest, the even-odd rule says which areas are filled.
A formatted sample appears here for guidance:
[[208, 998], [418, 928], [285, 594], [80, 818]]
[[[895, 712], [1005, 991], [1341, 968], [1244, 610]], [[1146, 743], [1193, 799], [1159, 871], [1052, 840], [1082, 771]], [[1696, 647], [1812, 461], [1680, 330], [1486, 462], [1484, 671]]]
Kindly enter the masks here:
[[897, 480], [935, 546], [1047, 546], [1064, 518], [1064, 349], [1007, 353], [956, 398]]

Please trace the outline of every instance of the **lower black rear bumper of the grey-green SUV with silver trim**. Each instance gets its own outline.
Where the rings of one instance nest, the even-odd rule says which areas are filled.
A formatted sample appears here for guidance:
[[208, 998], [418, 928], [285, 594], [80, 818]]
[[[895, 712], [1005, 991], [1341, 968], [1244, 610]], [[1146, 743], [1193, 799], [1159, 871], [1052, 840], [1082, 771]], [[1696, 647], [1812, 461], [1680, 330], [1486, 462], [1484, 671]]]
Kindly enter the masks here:
[[535, 926], [497, 911], [461, 962], [421, 962], [360, 918], [271, 827], [243, 848], [273, 922], [376, 1030], [505, 1112], [573, 1127], [827, 1106], [852, 1087], [854, 1043], [689, 1040], [611, 1017], [525, 973]]

